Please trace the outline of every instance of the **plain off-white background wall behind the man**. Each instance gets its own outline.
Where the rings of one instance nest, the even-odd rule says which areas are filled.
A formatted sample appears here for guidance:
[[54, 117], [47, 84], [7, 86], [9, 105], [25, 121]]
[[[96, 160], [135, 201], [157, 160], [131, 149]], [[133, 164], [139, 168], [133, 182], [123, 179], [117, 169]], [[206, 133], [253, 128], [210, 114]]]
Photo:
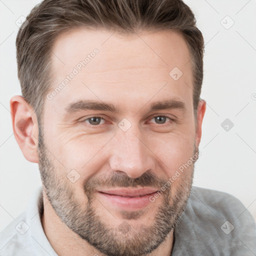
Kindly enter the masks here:
[[[0, 0], [0, 230], [41, 185], [37, 164], [24, 158], [14, 139], [9, 112], [10, 97], [21, 94], [15, 22], [39, 2]], [[206, 45], [201, 97], [207, 109], [193, 184], [236, 196], [256, 219], [256, 1], [185, 2]], [[226, 118], [234, 124], [228, 131], [221, 126]]]

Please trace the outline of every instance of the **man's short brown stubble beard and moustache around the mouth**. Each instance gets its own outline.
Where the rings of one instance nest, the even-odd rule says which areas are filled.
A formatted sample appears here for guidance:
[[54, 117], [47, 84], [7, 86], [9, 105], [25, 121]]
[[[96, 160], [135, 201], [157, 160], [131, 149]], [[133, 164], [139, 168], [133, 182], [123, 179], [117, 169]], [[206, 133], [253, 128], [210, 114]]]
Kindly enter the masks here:
[[[182, 182], [179, 183], [175, 194], [171, 194], [170, 185], [156, 199], [162, 200], [162, 203], [157, 209], [150, 226], [139, 225], [139, 222], [136, 226], [129, 224], [129, 219], [134, 220], [141, 217], [140, 211], [122, 211], [121, 215], [124, 220], [120, 221], [121, 224], [109, 226], [101, 220], [101, 216], [93, 207], [95, 199], [91, 191], [93, 191], [95, 183], [100, 182], [93, 178], [84, 182], [84, 195], [87, 197], [88, 203], [86, 206], [80, 205], [71, 189], [71, 182], [65, 175], [60, 178], [56, 174], [65, 173], [65, 171], [58, 170], [58, 167], [54, 166], [48, 155], [39, 128], [39, 170], [46, 196], [52, 208], [66, 226], [105, 255], [137, 256], [155, 250], [175, 227], [190, 194], [194, 164], [192, 164], [190, 170], [186, 170], [186, 173], [184, 172], [178, 177], [182, 178]], [[102, 182], [112, 185], [112, 187], [121, 184], [135, 187], [138, 185], [159, 185], [160, 183], [163, 184], [164, 180], [157, 179], [156, 181], [154, 175], [145, 172], [135, 179], [126, 175], [118, 175], [102, 180]]]

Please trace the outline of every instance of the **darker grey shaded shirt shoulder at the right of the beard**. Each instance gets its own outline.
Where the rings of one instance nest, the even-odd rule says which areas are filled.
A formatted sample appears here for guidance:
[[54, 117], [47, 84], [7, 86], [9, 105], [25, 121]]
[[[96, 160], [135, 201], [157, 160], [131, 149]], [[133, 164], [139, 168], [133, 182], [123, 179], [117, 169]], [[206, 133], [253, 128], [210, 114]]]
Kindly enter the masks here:
[[173, 255], [256, 254], [252, 215], [236, 197], [217, 190], [192, 186], [174, 235]]

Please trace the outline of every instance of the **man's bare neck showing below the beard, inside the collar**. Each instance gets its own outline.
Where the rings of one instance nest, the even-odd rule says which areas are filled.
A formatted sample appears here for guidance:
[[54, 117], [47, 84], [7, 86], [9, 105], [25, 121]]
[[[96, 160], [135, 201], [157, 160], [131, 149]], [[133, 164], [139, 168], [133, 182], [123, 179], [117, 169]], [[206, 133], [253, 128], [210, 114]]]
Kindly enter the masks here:
[[[43, 191], [43, 213], [41, 216], [44, 233], [59, 256], [105, 256], [95, 247], [68, 228], [55, 213]], [[173, 244], [173, 230], [150, 256], [170, 256]]]

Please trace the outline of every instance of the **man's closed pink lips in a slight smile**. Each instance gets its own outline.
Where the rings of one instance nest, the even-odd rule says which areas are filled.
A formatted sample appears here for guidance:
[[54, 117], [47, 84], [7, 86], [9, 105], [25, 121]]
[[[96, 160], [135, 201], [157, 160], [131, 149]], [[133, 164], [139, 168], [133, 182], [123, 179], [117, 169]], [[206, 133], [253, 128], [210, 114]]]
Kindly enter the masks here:
[[141, 209], [149, 204], [149, 197], [158, 191], [157, 188], [121, 188], [100, 189], [97, 191], [104, 201], [125, 210]]

